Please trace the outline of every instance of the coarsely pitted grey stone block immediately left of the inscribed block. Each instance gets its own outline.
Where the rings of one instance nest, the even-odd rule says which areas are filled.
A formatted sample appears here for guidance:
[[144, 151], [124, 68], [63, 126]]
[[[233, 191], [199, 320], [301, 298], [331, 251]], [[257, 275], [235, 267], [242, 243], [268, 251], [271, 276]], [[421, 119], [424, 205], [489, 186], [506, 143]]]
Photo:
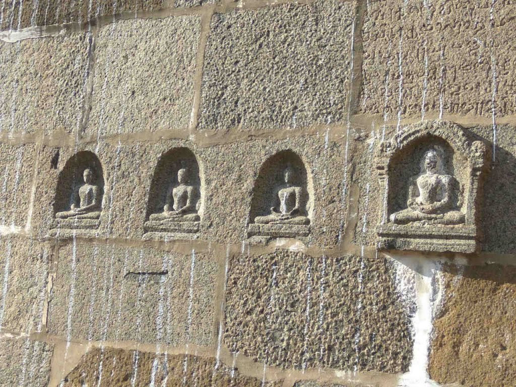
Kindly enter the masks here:
[[346, 118], [354, 2], [215, 14], [201, 130], [275, 131]]

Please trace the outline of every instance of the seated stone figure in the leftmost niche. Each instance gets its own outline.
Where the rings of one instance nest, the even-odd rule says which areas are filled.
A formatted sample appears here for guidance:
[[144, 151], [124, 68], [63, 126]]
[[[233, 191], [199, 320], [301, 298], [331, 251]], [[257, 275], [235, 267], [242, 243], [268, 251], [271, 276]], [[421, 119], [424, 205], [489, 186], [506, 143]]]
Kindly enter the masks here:
[[58, 219], [99, 219], [102, 205], [102, 190], [93, 184], [93, 171], [86, 168], [83, 173], [84, 184], [72, 196], [70, 211], [58, 212]]

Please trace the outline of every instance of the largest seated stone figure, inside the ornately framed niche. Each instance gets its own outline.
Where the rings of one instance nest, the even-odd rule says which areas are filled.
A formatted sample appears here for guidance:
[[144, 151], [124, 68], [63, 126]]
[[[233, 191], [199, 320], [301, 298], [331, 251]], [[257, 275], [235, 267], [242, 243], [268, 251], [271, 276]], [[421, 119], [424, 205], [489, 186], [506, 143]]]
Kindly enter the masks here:
[[421, 174], [410, 178], [408, 208], [392, 214], [390, 220], [396, 224], [464, 223], [465, 216], [458, 211], [459, 195], [457, 180], [443, 171], [441, 155], [429, 150], [423, 157]]

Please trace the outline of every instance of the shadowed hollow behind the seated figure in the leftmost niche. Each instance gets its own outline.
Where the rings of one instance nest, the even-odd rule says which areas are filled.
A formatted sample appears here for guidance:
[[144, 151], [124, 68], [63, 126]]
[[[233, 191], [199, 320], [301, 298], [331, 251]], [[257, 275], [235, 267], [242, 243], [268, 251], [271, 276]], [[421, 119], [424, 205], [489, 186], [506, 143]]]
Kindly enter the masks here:
[[[54, 215], [68, 211], [74, 200], [74, 193], [84, 184], [83, 174], [89, 168], [93, 172], [93, 184], [104, 195], [104, 173], [99, 158], [89, 151], [80, 151], [68, 159], [59, 173], [54, 200]], [[102, 200], [102, 199], [101, 199]]]

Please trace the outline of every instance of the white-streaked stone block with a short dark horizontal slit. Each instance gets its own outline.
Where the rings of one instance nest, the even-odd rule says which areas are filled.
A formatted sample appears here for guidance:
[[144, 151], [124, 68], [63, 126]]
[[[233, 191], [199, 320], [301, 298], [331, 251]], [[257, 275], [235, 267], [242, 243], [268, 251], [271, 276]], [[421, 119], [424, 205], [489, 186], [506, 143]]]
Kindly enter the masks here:
[[217, 267], [202, 253], [70, 241], [59, 250], [50, 331], [72, 339], [213, 345]]

